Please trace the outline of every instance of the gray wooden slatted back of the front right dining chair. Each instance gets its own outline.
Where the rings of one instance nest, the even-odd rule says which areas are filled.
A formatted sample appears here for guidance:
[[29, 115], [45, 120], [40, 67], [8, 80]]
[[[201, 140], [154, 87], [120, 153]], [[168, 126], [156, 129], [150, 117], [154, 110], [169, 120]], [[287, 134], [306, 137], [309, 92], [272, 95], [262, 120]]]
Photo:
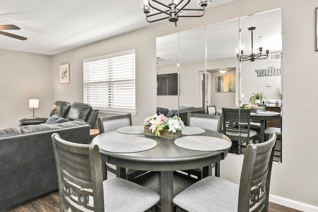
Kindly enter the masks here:
[[246, 146], [239, 183], [238, 211], [268, 211], [276, 138], [276, 133], [272, 133], [268, 141]]

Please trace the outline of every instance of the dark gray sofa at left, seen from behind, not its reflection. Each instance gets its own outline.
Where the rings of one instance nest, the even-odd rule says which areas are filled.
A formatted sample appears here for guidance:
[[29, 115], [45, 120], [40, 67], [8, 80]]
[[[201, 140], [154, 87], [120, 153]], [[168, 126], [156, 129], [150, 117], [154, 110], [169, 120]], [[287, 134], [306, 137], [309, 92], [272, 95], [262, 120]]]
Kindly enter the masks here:
[[0, 212], [58, 189], [51, 135], [88, 143], [89, 129], [83, 120], [0, 129]]

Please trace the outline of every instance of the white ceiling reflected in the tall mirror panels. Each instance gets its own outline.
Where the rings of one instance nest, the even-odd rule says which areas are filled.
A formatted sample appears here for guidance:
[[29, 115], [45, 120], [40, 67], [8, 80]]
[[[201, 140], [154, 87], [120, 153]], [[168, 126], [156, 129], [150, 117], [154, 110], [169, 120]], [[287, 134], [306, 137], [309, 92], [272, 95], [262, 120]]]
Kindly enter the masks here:
[[[205, 46], [207, 46], [207, 60], [234, 57], [236, 47], [239, 46], [239, 29], [241, 29], [241, 43], [245, 46], [244, 55], [250, 55], [249, 27], [256, 27], [253, 30], [253, 48], [257, 48], [257, 41], [259, 37], [262, 37], [264, 52], [267, 49], [270, 53], [282, 50], [282, 12], [281, 9], [273, 9], [212, 24], [206, 28], [199, 27], [159, 37], [157, 38], [157, 64], [204, 61]], [[207, 42], [206, 45], [205, 42]]]

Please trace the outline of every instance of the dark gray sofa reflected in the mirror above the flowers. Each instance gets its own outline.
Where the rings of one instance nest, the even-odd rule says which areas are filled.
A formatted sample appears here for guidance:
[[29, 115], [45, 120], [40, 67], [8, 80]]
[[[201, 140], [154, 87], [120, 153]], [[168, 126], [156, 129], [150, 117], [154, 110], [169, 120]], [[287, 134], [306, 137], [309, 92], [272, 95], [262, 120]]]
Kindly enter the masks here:
[[[179, 117], [181, 118], [185, 126], [188, 126], [187, 119], [189, 112], [205, 114], [205, 108], [180, 106]], [[178, 115], [178, 110], [168, 110], [167, 108], [157, 107], [157, 114], [159, 115], [160, 113], [164, 114], [166, 117], [173, 117]]]

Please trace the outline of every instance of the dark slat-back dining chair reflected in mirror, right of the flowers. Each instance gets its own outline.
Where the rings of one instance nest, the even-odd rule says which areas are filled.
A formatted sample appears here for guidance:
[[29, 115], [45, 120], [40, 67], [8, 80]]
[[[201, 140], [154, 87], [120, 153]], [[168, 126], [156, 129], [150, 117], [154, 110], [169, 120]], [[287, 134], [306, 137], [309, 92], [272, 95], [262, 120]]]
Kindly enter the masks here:
[[[222, 115], [223, 134], [232, 140], [233, 152], [241, 154], [242, 142], [248, 145], [250, 140], [256, 141], [257, 132], [250, 130], [250, 109], [222, 108]], [[233, 141], [238, 141], [238, 150]]]

